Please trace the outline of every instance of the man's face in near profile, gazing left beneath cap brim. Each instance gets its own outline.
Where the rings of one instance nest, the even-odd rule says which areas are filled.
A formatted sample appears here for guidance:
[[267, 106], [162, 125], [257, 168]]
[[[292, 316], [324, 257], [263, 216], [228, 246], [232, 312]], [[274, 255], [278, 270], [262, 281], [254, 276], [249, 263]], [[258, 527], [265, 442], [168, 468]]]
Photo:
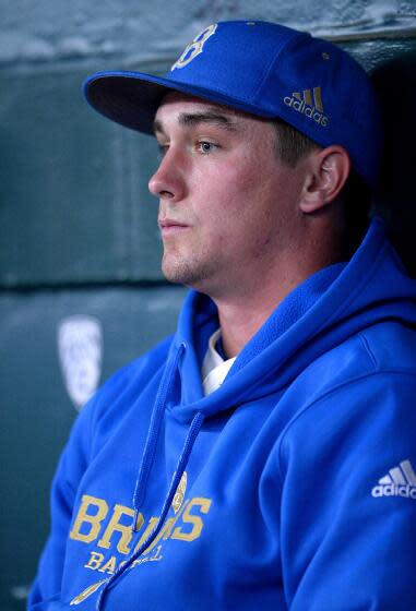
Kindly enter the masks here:
[[213, 298], [252, 290], [290, 248], [301, 168], [277, 159], [270, 122], [177, 93], [155, 134], [165, 276]]

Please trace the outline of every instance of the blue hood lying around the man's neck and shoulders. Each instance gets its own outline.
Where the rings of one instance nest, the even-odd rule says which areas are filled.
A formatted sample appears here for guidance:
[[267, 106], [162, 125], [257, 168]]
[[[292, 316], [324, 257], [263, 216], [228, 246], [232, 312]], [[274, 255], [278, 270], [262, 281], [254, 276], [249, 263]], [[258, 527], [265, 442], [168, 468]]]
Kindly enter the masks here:
[[373, 218], [350, 261], [321, 269], [293, 290], [238, 355], [221, 388], [204, 397], [194, 380], [218, 320], [211, 299], [190, 291], [173, 346], [185, 347], [175, 417], [190, 422], [201, 412], [207, 418], [224, 406], [229, 409], [284, 388], [323, 352], [362, 328], [385, 320], [415, 324], [415, 306], [416, 281], [387, 239], [384, 223]]

